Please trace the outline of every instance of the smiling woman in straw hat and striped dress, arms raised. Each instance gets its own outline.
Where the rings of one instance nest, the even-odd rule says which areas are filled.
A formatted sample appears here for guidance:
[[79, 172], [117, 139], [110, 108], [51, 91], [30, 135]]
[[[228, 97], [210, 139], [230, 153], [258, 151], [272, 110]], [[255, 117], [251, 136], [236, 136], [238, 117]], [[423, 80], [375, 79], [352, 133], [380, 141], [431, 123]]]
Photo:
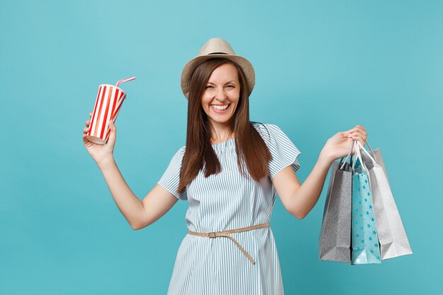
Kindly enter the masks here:
[[188, 201], [189, 231], [178, 249], [170, 295], [283, 294], [270, 229], [276, 193], [290, 214], [303, 219], [316, 204], [331, 163], [347, 155], [353, 140], [365, 144], [362, 126], [338, 132], [301, 184], [296, 175], [301, 153], [292, 141], [276, 125], [249, 121], [254, 84], [253, 66], [226, 41], [214, 38], [202, 47], [182, 74], [189, 100], [186, 145], [142, 201], [115, 164], [115, 126], [105, 145], [83, 136], [133, 229], [154, 223], [179, 199]]

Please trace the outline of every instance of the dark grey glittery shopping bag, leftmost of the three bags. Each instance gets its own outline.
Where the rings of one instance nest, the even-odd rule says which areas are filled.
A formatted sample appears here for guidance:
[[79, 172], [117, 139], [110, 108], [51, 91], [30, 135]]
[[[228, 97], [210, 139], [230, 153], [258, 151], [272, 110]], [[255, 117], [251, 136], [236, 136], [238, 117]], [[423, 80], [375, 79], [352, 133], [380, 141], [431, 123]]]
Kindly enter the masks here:
[[352, 168], [347, 163], [351, 151], [352, 148], [343, 164], [342, 158], [340, 163], [334, 161], [330, 168], [318, 242], [320, 260], [351, 262]]

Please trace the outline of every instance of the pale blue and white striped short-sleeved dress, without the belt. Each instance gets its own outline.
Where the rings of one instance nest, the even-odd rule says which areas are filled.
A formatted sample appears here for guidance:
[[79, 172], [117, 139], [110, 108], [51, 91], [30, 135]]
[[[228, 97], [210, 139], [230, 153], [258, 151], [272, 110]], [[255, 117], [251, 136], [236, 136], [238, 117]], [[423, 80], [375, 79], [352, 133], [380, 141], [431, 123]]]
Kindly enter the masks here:
[[[287, 166], [297, 172], [300, 168], [297, 157], [301, 153], [277, 125], [254, 122], [253, 126], [272, 154], [268, 164], [270, 175], [260, 183], [241, 175], [234, 138], [212, 145], [222, 171], [205, 178], [203, 169], [200, 170], [182, 194], [178, 194], [177, 188], [185, 146], [173, 156], [159, 185], [178, 199], [188, 201], [185, 219], [189, 230], [209, 233], [270, 221], [275, 203], [271, 179]], [[247, 169], [246, 173], [249, 174]], [[280, 261], [270, 226], [230, 236], [252, 256], [255, 264], [229, 238], [187, 233], [178, 248], [168, 295], [284, 294]]]

